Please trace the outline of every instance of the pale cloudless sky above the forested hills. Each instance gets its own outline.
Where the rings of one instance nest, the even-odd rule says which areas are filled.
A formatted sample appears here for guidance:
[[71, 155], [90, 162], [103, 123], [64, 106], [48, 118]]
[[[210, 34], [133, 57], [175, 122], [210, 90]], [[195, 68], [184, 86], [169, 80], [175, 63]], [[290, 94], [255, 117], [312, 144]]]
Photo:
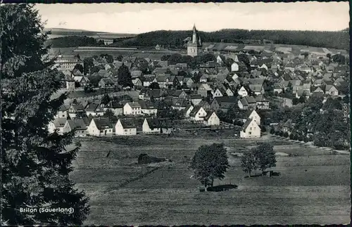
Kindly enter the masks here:
[[37, 4], [48, 28], [139, 34], [156, 30], [320, 30], [348, 27], [346, 2]]

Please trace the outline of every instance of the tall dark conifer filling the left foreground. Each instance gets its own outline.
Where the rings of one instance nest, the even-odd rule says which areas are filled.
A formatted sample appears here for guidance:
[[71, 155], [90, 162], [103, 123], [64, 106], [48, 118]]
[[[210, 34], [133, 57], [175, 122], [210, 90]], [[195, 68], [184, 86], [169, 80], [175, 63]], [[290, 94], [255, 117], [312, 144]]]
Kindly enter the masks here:
[[[34, 6], [1, 6], [1, 225], [81, 225], [88, 198], [68, 174], [80, 144], [73, 132], [50, 134], [67, 93], [51, 96], [63, 75], [47, 58], [48, 33]], [[25, 207], [73, 207], [73, 214], [24, 213]]]

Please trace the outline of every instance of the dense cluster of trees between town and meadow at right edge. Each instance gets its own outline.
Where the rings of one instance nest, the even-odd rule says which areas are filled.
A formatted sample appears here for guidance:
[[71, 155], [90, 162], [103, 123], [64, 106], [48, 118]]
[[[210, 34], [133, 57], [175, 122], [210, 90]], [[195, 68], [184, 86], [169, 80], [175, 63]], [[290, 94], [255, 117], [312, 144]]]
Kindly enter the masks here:
[[277, 122], [291, 119], [293, 128], [290, 138], [301, 138], [301, 141], [313, 140], [318, 146], [347, 148], [351, 141], [347, 117], [348, 96], [343, 99], [327, 98], [325, 103], [322, 103], [322, 100], [323, 98], [310, 97], [306, 103], [292, 108], [277, 108], [269, 117]]

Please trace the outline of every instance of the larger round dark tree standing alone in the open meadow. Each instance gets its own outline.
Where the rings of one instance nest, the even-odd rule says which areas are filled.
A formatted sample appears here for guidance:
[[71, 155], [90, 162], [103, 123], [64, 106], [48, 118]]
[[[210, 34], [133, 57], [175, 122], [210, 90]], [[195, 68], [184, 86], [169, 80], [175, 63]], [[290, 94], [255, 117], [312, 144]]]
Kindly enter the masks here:
[[194, 176], [205, 188], [213, 186], [215, 179], [224, 179], [229, 167], [227, 151], [222, 143], [201, 145], [191, 161]]

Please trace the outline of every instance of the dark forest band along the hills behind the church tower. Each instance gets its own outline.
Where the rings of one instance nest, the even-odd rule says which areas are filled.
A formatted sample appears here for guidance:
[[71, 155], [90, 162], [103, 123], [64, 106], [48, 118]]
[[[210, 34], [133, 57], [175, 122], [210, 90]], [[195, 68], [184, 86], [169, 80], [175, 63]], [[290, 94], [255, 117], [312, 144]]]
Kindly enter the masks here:
[[[169, 46], [180, 48], [184, 39], [191, 37], [191, 31], [156, 31], [138, 34], [132, 39], [115, 40], [111, 46]], [[241, 43], [241, 40], [270, 40], [274, 44], [316, 46], [349, 50], [348, 32], [283, 31], [283, 30], [220, 30], [199, 32], [203, 42]], [[89, 37], [58, 37], [50, 39], [53, 47], [99, 46]]]

